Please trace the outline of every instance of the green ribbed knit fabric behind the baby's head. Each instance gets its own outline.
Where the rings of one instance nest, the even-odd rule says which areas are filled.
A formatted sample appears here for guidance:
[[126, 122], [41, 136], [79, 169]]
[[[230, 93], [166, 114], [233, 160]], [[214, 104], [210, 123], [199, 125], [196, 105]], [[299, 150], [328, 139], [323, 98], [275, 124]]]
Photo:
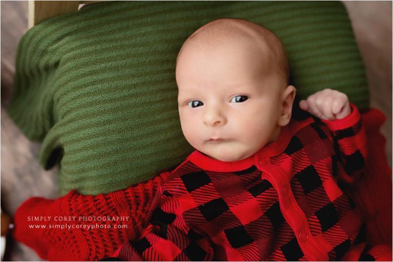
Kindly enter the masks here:
[[324, 88], [368, 107], [365, 71], [340, 2], [106, 2], [54, 17], [20, 40], [9, 114], [59, 163], [62, 194], [146, 181], [185, 159], [174, 68], [184, 40], [209, 21], [244, 18], [285, 44], [301, 97]]

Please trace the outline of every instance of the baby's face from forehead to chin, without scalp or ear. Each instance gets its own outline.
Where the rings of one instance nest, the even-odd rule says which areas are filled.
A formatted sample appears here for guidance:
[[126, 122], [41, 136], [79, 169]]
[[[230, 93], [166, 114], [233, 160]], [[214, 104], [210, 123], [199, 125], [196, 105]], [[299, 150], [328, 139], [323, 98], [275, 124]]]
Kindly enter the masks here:
[[232, 42], [190, 47], [179, 57], [183, 134], [205, 155], [242, 160], [277, 139], [286, 82], [258, 52], [254, 45]]

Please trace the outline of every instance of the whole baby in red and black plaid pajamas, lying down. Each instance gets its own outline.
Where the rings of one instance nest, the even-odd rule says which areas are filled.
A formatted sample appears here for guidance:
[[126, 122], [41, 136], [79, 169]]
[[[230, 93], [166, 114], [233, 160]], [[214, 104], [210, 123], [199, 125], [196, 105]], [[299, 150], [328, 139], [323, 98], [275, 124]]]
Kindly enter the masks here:
[[[176, 67], [179, 114], [196, 149], [171, 172], [123, 260], [370, 259], [361, 213], [338, 186], [361, 174], [365, 133], [346, 95], [300, 101], [292, 119], [285, 49], [271, 31], [219, 19]], [[321, 119], [321, 120], [319, 120]], [[113, 258], [112, 258], [113, 259]]]

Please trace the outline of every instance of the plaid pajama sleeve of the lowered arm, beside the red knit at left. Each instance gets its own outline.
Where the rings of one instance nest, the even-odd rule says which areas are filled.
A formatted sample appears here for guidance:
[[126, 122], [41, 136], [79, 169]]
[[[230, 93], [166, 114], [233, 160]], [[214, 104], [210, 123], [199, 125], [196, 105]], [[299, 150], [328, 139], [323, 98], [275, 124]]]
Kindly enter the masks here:
[[152, 212], [141, 238], [125, 243], [114, 256], [123, 261], [213, 260], [210, 238], [186, 225], [182, 216], [184, 207], [179, 205], [178, 199], [165, 190], [161, 190], [157, 198], [160, 204]]

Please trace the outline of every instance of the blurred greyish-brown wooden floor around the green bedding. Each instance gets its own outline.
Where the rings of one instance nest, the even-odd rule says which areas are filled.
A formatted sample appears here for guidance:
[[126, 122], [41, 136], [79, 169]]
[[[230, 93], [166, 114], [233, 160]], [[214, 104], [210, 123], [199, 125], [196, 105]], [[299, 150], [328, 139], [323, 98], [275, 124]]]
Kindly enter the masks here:
[[[8, 117], [15, 72], [17, 42], [28, 28], [27, 1], [1, 4], [1, 204], [14, 214], [26, 199], [40, 195], [56, 198], [56, 170], [44, 171], [36, 157], [39, 144], [28, 141]], [[391, 166], [392, 144], [392, 52], [391, 2], [344, 2], [353, 21], [356, 39], [364, 58], [371, 93], [371, 104], [386, 115], [382, 132], [387, 138], [386, 152]], [[31, 249], [16, 243], [10, 260], [41, 260]]]

